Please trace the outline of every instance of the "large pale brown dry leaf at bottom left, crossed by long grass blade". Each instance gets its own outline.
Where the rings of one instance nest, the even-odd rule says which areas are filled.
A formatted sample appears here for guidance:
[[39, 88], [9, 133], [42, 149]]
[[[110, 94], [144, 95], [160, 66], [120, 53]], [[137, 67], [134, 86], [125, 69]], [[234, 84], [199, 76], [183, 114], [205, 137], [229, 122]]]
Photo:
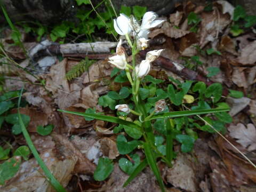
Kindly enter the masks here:
[[[73, 175], [77, 157], [65, 156], [60, 160], [52, 149], [45, 151], [40, 156], [55, 178], [63, 187], [66, 187]], [[35, 158], [23, 162], [15, 177], [9, 180], [4, 187], [0, 187], [0, 190], [2, 192], [55, 191], [50, 182], [46, 180]]]

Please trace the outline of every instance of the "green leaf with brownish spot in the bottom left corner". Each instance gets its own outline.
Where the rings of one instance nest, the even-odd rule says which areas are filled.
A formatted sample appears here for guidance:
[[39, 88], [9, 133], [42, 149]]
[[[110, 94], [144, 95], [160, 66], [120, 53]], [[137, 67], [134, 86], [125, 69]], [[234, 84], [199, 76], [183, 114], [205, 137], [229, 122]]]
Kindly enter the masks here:
[[0, 165], [0, 185], [11, 179], [20, 169], [21, 158], [12, 157]]

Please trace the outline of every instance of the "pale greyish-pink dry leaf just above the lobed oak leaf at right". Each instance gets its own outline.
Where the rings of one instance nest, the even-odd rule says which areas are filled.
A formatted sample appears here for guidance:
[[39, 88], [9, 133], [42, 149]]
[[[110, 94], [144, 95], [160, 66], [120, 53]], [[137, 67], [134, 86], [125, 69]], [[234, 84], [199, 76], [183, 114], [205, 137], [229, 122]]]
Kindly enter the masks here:
[[235, 116], [237, 113], [239, 113], [241, 110], [243, 110], [249, 103], [251, 99], [243, 97], [243, 98], [227, 98], [227, 102], [231, 106], [231, 110], [229, 111], [229, 115]]

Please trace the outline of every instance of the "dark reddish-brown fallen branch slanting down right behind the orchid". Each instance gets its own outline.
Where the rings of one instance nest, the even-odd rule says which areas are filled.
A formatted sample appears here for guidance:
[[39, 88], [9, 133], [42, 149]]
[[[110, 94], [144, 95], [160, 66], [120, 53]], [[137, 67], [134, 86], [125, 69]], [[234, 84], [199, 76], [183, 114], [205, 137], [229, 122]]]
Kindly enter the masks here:
[[[145, 59], [147, 51], [140, 51], [140, 57], [142, 59]], [[194, 81], [202, 81], [204, 82], [207, 86], [215, 83], [211, 81], [210, 79], [204, 77], [203, 75], [199, 74], [198, 72], [188, 69], [181, 65], [180, 63], [172, 62], [170, 59], [166, 59], [162, 56], [158, 57], [154, 63], [158, 66], [161, 66], [167, 70], [172, 71], [172, 73], [175, 73], [179, 75], [180, 77], [188, 80], [194, 80]], [[229, 91], [226, 88], [223, 88], [222, 94], [224, 96], [227, 96]]]

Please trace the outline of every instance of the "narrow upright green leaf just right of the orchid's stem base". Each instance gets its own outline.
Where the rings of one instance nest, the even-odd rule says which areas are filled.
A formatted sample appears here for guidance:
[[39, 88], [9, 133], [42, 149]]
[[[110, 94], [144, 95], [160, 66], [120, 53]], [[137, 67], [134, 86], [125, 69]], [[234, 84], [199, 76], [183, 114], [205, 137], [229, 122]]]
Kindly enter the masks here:
[[172, 129], [174, 127], [173, 119], [167, 119], [166, 122], [166, 159], [171, 164], [173, 159], [173, 138], [172, 138]]

